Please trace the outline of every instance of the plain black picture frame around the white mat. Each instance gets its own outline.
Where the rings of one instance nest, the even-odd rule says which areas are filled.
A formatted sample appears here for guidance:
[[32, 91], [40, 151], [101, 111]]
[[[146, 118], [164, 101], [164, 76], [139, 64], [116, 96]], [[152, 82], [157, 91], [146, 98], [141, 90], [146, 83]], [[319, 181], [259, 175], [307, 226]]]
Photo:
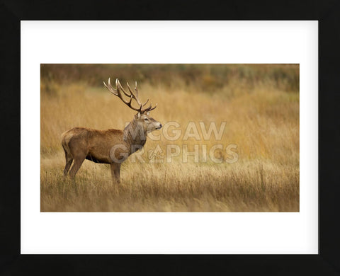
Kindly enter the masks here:
[[[1, 1], [0, 275], [340, 275], [340, 1]], [[21, 255], [21, 20], [319, 21], [318, 255]]]

